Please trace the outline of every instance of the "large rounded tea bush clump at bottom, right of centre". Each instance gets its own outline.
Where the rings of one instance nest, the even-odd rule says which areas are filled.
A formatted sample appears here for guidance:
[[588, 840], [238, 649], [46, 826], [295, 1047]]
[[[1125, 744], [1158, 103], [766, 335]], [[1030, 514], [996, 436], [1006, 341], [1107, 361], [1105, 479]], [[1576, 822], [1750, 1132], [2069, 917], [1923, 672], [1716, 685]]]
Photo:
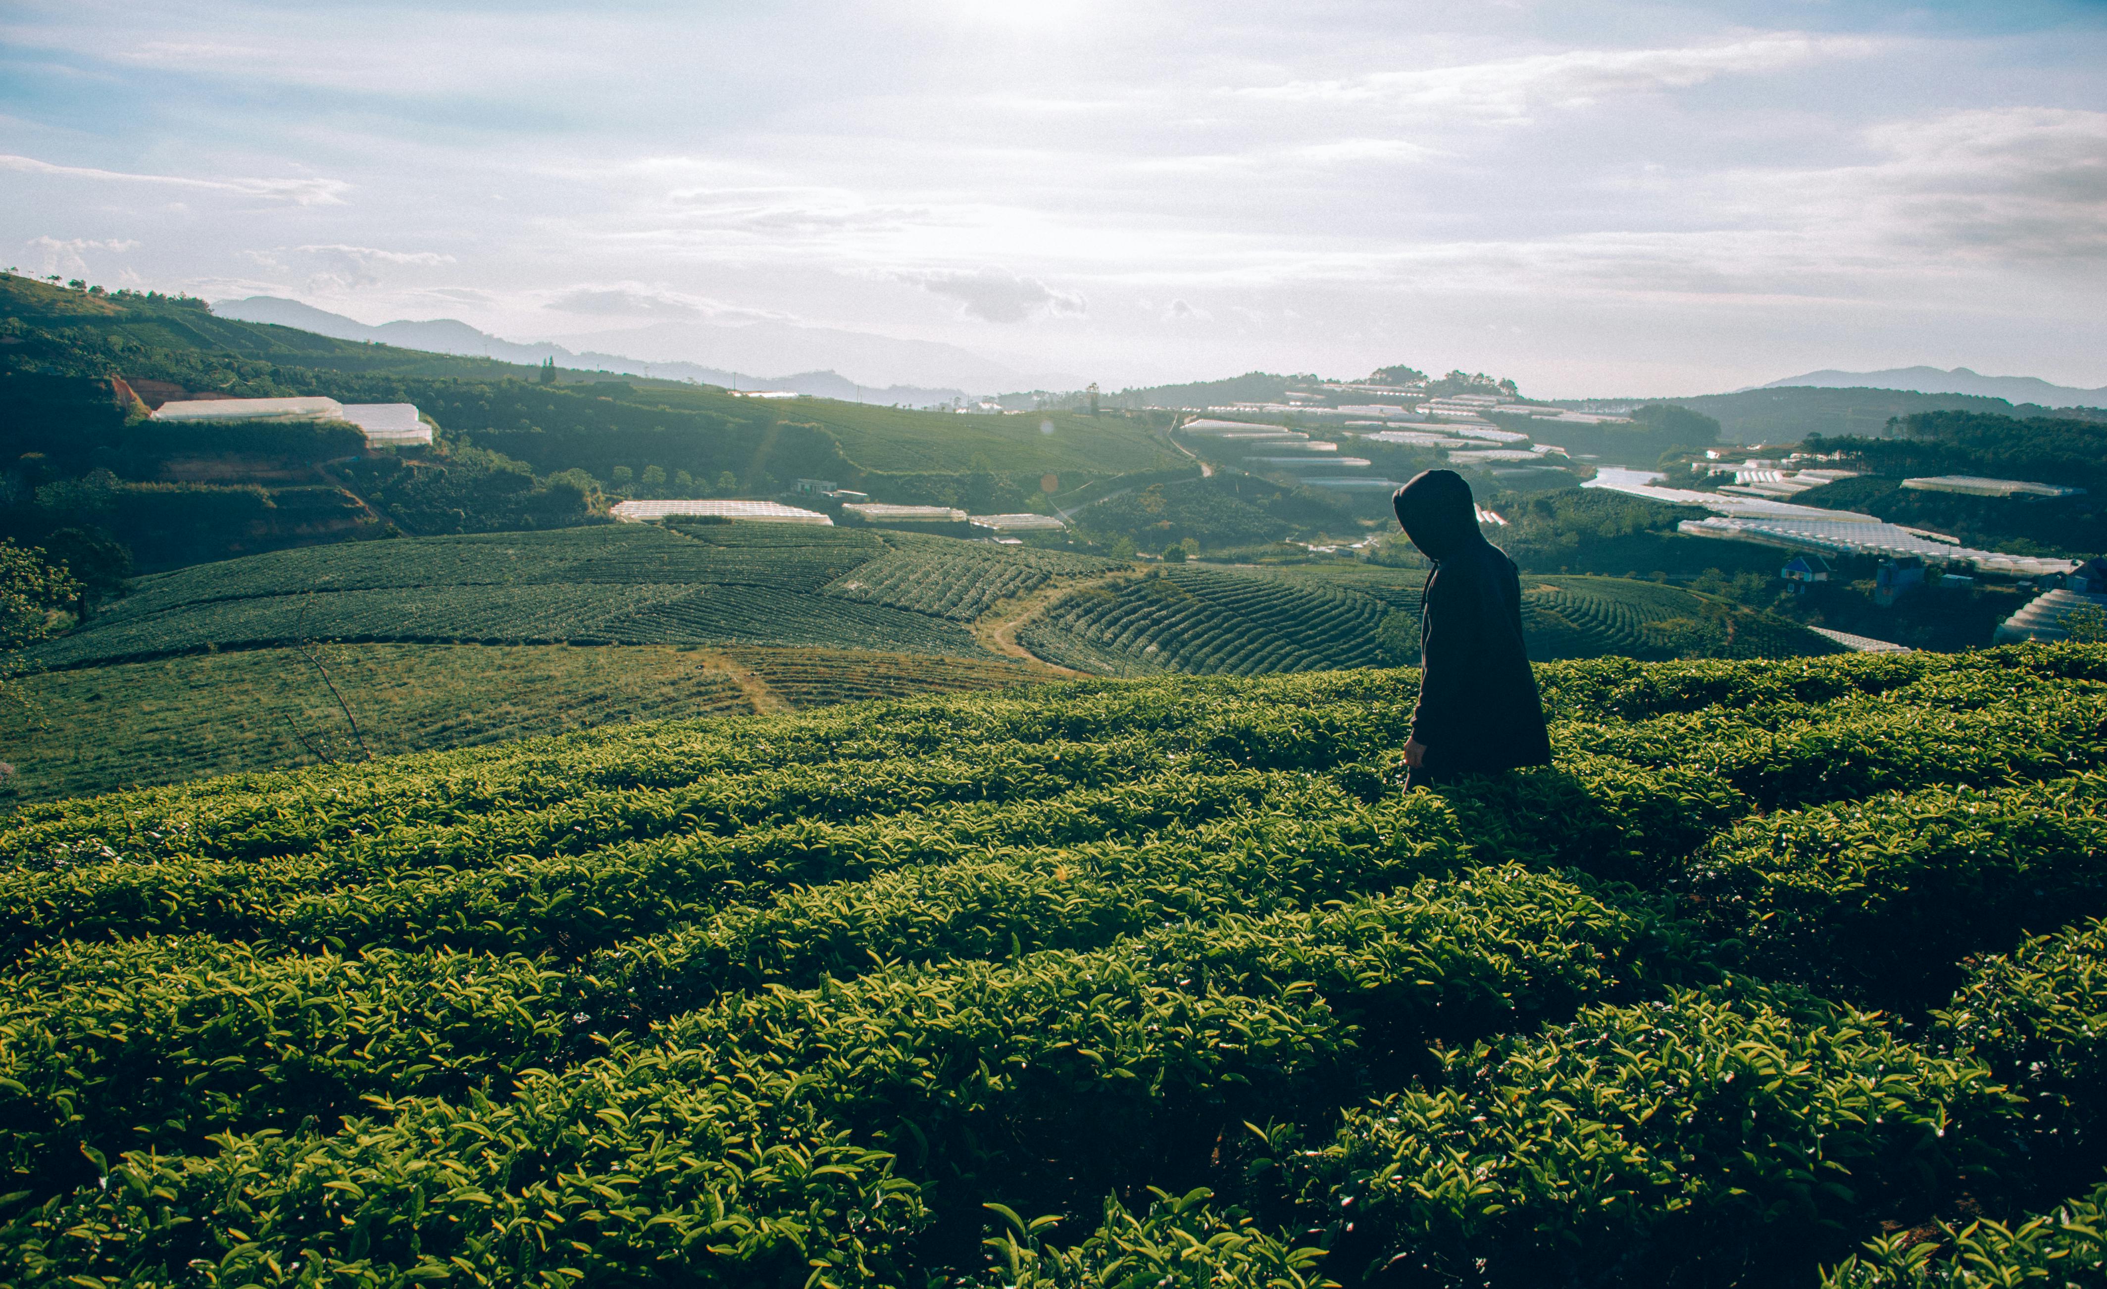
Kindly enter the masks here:
[[1772, 1285], [1993, 1177], [2016, 1110], [1877, 1017], [1736, 986], [1456, 1049], [1289, 1163], [1342, 1260], [1407, 1278]]

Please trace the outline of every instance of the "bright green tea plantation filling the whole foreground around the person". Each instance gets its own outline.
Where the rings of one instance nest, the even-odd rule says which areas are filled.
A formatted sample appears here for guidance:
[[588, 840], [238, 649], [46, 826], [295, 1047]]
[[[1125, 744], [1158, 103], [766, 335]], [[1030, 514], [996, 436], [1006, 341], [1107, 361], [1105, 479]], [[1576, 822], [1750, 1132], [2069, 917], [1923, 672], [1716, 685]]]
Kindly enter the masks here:
[[2107, 649], [1083, 680], [0, 828], [0, 1283], [2099, 1285]]

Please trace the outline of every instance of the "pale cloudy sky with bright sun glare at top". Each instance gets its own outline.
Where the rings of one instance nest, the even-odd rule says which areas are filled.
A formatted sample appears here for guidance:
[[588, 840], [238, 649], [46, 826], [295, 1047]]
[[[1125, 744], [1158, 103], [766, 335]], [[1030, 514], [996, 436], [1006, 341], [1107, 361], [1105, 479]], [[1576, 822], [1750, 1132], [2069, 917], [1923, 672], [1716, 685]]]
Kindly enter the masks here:
[[2103, 70], [2107, 0], [8, 0], [0, 263], [1106, 388], [2107, 385]]

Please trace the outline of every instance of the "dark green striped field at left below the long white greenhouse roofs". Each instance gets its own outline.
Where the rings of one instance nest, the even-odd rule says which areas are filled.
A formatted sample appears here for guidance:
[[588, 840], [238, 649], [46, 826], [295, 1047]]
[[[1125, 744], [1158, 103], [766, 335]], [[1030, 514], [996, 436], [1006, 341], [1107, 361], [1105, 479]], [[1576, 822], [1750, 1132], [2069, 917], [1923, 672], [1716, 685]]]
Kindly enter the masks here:
[[[925, 543], [929, 539], [923, 539]], [[952, 543], [965, 571], [1007, 586], [1060, 556]], [[88, 626], [36, 651], [51, 668], [297, 640], [803, 644], [976, 657], [942, 602], [904, 588], [832, 588], [917, 552], [853, 529], [651, 524], [405, 537], [289, 550], [139, 579]], [[921, 556], [929, 567], [948, 567]], [[1066, 564], [1062, 564], [1066, 567]], [[851, 579], [853, 581], [853, 579]], [[889, 586], [889, 583], [887, 583]], [[954, 588], [971, 598], [967, 586]], [[891, 607], [891, 600], [929, 611]]]

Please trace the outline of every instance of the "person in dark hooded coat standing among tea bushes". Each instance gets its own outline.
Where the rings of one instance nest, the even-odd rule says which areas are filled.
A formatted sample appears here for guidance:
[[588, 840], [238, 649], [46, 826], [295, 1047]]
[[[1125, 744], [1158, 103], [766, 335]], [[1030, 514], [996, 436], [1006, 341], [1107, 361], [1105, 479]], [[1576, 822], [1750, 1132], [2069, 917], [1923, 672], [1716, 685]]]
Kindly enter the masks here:
[[1424, 470], [1391, 505], [1412, 546], [1435, 562], [1420, 592], [1420, 703], [1405, 784], [1551, 765], [1521, 640], [1521, 575], [1479, 533], [1471, 484], [1454, 470]]

